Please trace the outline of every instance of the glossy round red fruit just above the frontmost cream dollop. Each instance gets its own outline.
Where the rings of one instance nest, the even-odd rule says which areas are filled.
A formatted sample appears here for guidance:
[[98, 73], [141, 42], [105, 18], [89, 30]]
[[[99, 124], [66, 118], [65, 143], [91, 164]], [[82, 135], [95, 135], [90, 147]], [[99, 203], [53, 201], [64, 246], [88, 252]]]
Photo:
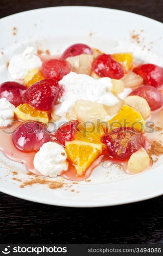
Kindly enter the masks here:
[[50, 141], [50, 135], [43, 129], [43, 125], [28, 121], [20, 124], [12, 135], [15, 147], [23, 152], [38, 151], [40, 147]]

